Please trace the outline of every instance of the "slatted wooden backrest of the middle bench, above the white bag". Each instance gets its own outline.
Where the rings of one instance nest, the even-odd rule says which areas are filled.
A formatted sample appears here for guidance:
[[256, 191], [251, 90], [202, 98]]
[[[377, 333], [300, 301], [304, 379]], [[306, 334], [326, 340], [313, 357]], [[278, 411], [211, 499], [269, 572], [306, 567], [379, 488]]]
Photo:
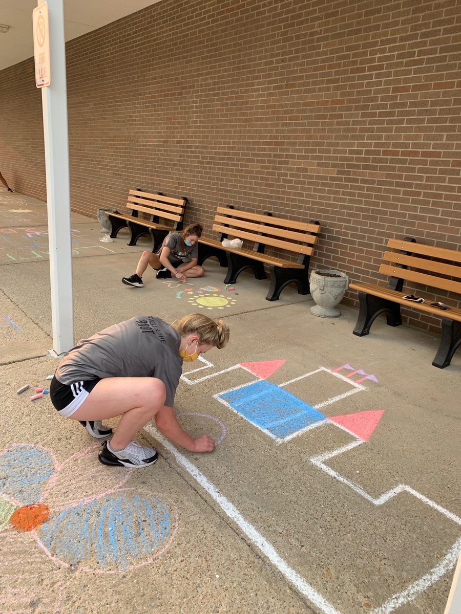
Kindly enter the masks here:
[[[317, 243], [318, 222], [296, 222], [270, 213], [240, 211], [231, 207], [218, 207], [213, 230], [221, 233], [219, 241], [227, 235], [243, 241], [256, 241], [254, 251], [262, 246], [278, 247], [301, 255], [311, 255]], [[297, 241], [298, 243], [295, 243]]]

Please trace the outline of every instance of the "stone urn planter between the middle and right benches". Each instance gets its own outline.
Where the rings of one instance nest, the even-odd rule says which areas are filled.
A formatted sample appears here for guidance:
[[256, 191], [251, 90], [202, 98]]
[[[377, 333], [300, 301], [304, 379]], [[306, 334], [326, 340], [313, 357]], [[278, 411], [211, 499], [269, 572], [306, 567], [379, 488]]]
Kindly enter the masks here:
[[349, 287], [349, 277], [341, 271], [317, 270], [310, 274], [310, 294], [317, 303], [310, 313], [318, 317], [339, 317], [336, 305]]

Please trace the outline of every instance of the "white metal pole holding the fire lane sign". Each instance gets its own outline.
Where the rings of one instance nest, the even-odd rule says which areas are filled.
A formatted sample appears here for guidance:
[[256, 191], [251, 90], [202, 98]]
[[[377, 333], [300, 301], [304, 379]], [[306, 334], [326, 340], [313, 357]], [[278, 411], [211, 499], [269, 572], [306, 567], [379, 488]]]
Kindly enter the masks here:
[[[74, 346], [69, 138], [63, 0], [47, 0], [50, 85], [42, 87], [53, 351]], [[41, 4], [39, 0], [39, 5]]]

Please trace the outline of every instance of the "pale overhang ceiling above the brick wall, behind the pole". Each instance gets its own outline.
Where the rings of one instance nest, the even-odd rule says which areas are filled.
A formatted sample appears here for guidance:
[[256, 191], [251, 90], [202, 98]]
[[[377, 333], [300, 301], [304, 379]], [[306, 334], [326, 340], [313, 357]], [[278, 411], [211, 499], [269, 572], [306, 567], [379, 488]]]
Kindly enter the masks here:
[[[66, 41], [136, 13], [160, 0], [64, 0]], [[36, 0], [1, 0], [0, 71], [34, 55], [32, 12]], [[50, 9], [50, 6], [48, 7]]]

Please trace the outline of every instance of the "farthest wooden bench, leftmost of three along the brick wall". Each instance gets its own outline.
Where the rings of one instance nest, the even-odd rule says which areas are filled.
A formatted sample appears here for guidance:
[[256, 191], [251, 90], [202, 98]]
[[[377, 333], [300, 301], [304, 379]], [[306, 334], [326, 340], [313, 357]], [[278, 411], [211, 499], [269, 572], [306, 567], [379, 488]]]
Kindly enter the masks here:
[[[152, 237], [152, 251], [155, 252], [169, 232], [182, 230], [186, 204], [185, 196], [171, 198], [161, 192], [151, 194], [140, 188], [130, 190], [127, 209], [131, 211], [131, 215], [106, 211], [112, 225], [111, 237], [112, 239], [116, 237], [120, 228], [128, 227], [130, 230], [128, 245], [136, 245], [140, 236], [149, 233]], [[140, 213], [148, 214], [148, 219], [139, 217]]]

